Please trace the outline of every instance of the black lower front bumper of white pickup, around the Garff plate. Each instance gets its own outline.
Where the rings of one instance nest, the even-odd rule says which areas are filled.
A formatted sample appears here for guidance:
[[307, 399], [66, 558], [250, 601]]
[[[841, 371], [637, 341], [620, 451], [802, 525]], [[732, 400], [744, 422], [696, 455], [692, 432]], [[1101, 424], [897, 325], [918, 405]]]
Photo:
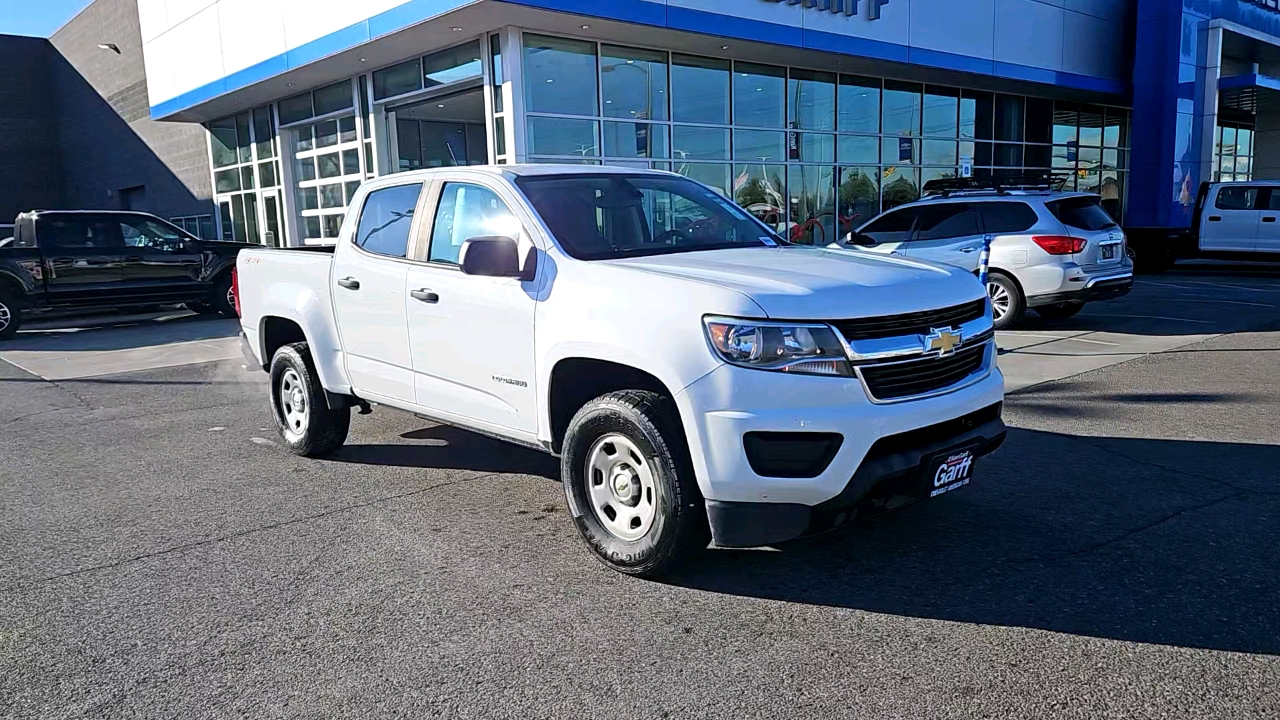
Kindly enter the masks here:
[[928, 497], [923, 466], [934, 456], [973, 448], [989, 455], [1005, 442], [1001, 405], [955, 420], [881, 438], [836, 497], [822, 505], [707, 501], [721, 547], [759, 547], [822, 533]]

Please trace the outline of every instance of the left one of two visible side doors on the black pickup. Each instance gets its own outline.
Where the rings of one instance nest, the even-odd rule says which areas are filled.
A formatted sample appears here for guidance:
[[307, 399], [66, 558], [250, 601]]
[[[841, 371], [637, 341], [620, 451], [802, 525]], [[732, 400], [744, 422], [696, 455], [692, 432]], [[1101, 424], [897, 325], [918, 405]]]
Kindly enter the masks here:
[[106, 305], [120, 292], [124, 238], [108, 215], [37, 215], [36, 241], [45, 260], [51, 305]]

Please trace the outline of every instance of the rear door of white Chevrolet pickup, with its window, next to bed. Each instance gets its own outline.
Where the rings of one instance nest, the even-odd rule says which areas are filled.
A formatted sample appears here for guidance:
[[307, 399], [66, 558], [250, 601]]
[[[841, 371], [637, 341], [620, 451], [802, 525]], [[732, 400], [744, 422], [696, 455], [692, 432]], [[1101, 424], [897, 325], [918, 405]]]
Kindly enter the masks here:
[[333, 266], [333, 305], [347, 374], [362, 397], [413, 402], [404, 297], [422, 183], [375, 190], [365, 199], [353, 238], [340, 238]]

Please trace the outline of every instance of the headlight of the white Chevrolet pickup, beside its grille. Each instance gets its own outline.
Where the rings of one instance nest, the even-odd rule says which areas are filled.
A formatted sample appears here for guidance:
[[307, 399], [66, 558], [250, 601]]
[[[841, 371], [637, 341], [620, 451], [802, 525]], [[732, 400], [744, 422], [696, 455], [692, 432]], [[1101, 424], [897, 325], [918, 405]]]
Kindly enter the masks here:
[[827, 325], [707, 318], [707, 337], [726, 363], [805, 375], [854, 374], [845, 346]]

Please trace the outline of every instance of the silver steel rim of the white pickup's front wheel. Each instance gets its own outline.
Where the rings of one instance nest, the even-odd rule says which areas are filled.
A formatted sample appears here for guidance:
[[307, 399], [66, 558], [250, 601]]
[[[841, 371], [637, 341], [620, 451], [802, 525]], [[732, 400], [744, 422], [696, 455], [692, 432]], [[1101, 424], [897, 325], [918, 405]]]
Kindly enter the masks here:
[[626, 436], [611, 433], [591, 446], [586, 491], [596, 520], [613, 537], [634, 542], [653, 528], [658, 515], [653, 466]]

